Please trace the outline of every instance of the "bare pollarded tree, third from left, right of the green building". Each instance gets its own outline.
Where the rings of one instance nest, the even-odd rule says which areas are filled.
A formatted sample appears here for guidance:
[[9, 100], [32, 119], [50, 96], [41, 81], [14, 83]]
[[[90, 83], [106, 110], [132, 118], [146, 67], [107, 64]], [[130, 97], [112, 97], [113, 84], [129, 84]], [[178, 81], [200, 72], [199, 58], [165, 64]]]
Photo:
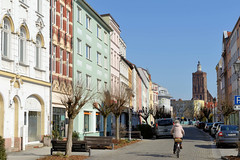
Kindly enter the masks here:
[[132, 89], [128, 87], [121, 87], [120, 91], [114, 94], [112, 100], [114, 105], [111, 109], [112, 113], [115, 116], [115, 136], [119, 140], [119, 117], [122, 114], [123, 110], [130, 107], [130, 98], [132, 96]]

